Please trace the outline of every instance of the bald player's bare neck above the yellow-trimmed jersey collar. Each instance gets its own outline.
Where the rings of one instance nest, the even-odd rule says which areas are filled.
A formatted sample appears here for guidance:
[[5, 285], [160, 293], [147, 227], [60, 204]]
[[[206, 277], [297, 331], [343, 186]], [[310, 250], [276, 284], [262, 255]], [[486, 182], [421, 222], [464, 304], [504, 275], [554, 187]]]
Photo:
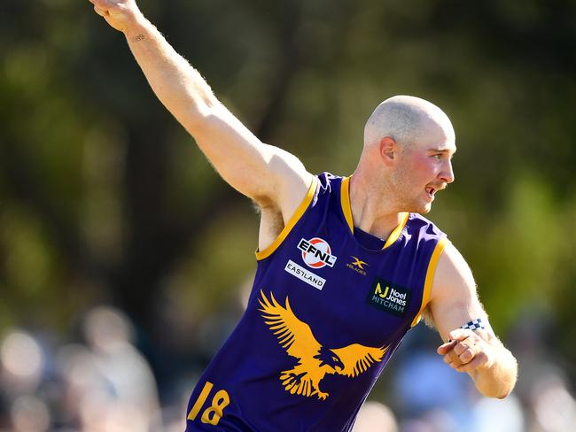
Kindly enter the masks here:
[[375, 189], [362, 173], [350, 179], [350, 208], [354, 227], [385, 240], [400, 224], [401, 212], [396, 211], [393, 194], [386, 188]]

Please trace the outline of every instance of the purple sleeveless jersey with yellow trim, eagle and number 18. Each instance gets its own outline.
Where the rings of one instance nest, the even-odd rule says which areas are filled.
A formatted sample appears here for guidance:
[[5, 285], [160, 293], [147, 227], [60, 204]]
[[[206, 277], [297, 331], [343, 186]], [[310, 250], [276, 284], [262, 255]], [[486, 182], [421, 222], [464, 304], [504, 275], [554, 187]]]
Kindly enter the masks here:
[[192, 392], [187, 431], [347, 431], [420, 319], [447, 243], [414, 213], [384, 242], [354, 228], [349, 178], [321, 174], [256, 252], [247, 310]]

